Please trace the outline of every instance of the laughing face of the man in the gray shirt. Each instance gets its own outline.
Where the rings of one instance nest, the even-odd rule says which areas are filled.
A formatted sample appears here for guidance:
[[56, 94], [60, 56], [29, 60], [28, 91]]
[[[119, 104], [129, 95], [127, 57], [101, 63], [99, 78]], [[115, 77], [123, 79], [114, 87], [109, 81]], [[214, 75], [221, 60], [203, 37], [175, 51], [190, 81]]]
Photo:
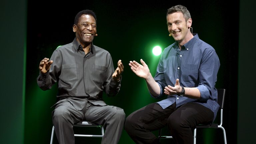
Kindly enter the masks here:
[[83, 14], [77, 23], [73, 25], [73, 32], [76, 33], [76, 40], [82, 45], [90, 45], [97, 33], [96, 20], [93, 16]]

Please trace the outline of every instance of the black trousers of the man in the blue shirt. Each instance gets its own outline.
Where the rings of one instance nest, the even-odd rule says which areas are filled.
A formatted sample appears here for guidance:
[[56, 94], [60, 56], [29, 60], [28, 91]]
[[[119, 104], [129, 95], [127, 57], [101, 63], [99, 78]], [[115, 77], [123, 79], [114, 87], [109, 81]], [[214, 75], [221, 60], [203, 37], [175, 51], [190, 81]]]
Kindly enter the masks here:
[[176, 108], [176, 103], [163, 109], [158, 103], [149, 104], [133, 113], [125, 121], [125, 130], [136, 144], [160, 144], [151, 133], [168, 127], [177, 144], [193, 144], [193, 130], [198, 124], [210, 124], [214, 113], [198, 104], [186, 103]]

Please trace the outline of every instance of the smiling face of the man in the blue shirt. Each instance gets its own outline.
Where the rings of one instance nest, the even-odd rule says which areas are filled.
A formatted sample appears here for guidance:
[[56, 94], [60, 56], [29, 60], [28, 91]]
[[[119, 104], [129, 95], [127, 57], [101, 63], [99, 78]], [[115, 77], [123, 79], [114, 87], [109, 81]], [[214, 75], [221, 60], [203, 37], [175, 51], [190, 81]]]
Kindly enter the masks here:
[[185, 20], [181, 12], [174, 12], [167, 15], [168, 31], [180, 45], [187, 43], [193, 35], [190, 32], [192, 19]]

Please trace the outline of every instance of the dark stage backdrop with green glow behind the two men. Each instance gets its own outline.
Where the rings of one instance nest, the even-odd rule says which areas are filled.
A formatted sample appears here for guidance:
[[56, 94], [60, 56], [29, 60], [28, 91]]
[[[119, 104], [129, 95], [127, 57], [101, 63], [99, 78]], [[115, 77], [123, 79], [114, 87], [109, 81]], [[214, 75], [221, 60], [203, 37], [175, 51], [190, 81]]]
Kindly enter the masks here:
[[[91, 9], [97, 15], [98, 36], [94, 45], [110, 52], [115, 67], [119, 59], [125, 66], [119, 94], [104, 96], [106, 103], [123, 108], [128, 116], [158, 101], [150, 97], [144, 80], [132, 73], [128, 63], [142, 58], [154, 76], [160, 57], [153, 56], [151, 51], [156, 45], [163, 49], [174, 42], [168, 36], [166, 11], [177, 4], [188, 8], [193, 33], [212, 45], [219, 56], [216, 88], [227, 89], [223, 127], [228, 143], [252, 143], [256, 52], [252, 45], [255, 2], [250, 0], [232, 1], [232, 6], [220, 0], [1, 1], [1, 143], [50, 142], [53, 110], [50, 107], [56, 101], [57, 87], [48, 91], [38, 88], [38, 65], [44, 57], [50, 58], [57, 46], [73, 41], [74, 17], [83, 9]], [[221, 130], [198, 130], [197, 142], [223, 143], [221, 133]], [[80, 141], [84, 139], [77, 139]], [[125, 130], [119, 143], [133, 143]]]

